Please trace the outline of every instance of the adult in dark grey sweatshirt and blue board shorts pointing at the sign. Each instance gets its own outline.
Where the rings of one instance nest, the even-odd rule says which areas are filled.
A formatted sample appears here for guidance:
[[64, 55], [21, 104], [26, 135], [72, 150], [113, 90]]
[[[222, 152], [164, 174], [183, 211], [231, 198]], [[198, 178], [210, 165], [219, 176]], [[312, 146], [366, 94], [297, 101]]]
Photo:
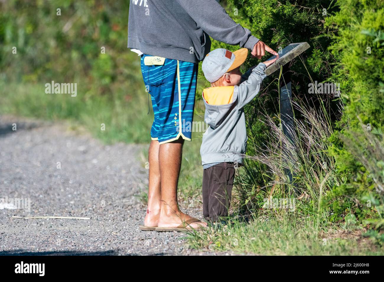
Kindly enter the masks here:
[[[197, 64], [210, 51], [210, 38], [240, 45], [261, 58], [270, 47], [235, 23], [217, 0], [132, 0], [128, 48], [141, 56], [141, 69], [154, 109], [149, 147], [148, 208], [141, 230], [199, 228], [202, 223], [177, 204], [182, 145], [191, 139], [182, 122], [192, 122]], [[175, 229], [176, 230], [176, 229]]]

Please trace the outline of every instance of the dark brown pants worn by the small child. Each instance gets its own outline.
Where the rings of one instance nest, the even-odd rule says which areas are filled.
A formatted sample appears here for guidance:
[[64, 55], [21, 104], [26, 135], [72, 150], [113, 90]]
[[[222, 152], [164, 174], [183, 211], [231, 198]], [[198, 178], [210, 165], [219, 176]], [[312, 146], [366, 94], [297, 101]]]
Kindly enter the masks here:
[[206, 220], [215, 222], [228, 216], [234, 178], [233, 163], [219, 163], [204, 170], [203, 216]]

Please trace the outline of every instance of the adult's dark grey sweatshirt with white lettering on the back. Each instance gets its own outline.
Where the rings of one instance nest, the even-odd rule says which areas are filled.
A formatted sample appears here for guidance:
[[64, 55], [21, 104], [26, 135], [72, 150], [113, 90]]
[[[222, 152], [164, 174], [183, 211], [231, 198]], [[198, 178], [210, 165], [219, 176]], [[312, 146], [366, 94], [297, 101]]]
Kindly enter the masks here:
[[216, 0], [131, 0], [128, 48], [190, 63], [202, 61], [215, 40], [253, 49], [258, 39], [235, 23]]

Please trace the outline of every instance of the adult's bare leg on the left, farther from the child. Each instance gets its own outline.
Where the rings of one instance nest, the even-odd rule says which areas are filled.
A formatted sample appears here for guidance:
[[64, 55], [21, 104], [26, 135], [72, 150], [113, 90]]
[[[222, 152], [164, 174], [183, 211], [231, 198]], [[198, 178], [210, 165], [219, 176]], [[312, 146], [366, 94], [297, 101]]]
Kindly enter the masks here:
[[149, 191], [147, 214], [144, 218], [144, 226], [157, 226], [160, 216], [161, 206], [161, 186], [160, 186], [160, 168], [159, 168], [159, 141], [152, 140], [149, 145]]

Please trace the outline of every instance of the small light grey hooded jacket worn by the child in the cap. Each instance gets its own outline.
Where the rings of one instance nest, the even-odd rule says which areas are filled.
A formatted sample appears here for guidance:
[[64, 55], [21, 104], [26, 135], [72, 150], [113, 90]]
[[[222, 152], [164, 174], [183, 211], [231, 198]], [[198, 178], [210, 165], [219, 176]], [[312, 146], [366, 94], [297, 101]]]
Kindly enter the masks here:
[[247, 150], [247, 129], [243, 107], [260, 91], [266, 74], [263, 63], [247, 71], [242, 78], [248, 79], [233, 89], [232, 103], [210, 105], [205, 101], [204, 120], [209, 125], [200, 147], [202, 165], [209, 163], [243, 163], [242, 154]]

